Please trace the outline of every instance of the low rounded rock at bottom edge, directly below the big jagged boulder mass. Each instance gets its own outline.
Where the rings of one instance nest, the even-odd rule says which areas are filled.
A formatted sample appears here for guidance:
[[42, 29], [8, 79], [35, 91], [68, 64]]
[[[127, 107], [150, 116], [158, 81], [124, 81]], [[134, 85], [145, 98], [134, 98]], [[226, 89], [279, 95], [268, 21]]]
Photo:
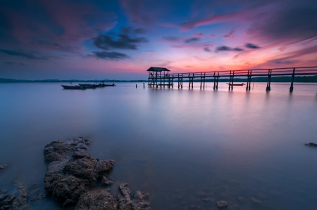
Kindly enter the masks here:
[[80, 196], [80, 199], [75, 207], [75, 210], [89, 209], [118, 209], [118, 201], [112, 197], [108, 190], [97, 190], [87, 192]]

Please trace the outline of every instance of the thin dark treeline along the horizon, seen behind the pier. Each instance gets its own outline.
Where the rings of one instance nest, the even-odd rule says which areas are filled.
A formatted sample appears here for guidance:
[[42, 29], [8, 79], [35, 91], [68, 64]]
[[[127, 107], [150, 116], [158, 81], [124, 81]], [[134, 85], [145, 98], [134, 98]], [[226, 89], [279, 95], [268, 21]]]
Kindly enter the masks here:
[[[158, 79], [159, 80], [159, 79]], [[175, 79], [177, 81], [177, 79]], [[105, 83], [111, 82], [146, 82], [147, 79], [139, 79], [139, 80], [116, 80], [116, 79], [94, 79], [94, 80], [78, 80], [78, 79], [43, 79], [43, 80], [26, 80], [26, 79], [4, 79], [0, 78], [1, 82], [100, 82], [104, 81]], [[184, 79], [185, 81], [185, 79]], [[213, 82], [213, 79], [206, 79], [206, 82]], [[219, 79], [220, 82], [228, 82], [229, 79]], [[251, 82], [266, 82], [268, 81], [268, 77], [252, 77]], [[271, 82], [290, 82], [292, 81], [292, 77], [272, 77]], [[297, 76], [294, 79], [295, 82], [317, 82], [317, 76]], [[200, 79], [194, 79], [194, 82], [200, 82]], [[247, 78], [235, 78], [234, 82], [247, 82]]]

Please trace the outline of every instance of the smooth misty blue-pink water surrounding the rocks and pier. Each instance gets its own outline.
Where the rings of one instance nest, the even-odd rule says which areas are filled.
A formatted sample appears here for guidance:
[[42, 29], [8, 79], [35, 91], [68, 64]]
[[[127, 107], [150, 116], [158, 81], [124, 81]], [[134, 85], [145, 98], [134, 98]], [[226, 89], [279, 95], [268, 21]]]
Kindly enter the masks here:
[[[304, 143], [317, 143], [317, 85], [289, 88], [0, 84], [0, 165], [9, 166], [0, 189], [43, 183], [44, 146], [83, 136], [92, 157], [116, 160], [111, 190], [126, 182], [149, 193], [153, 209], [217, 209], [218, 200], [227, 209], [314, 209], [317, 147]], [[62, 209], [52, 198], [31, 204]]]

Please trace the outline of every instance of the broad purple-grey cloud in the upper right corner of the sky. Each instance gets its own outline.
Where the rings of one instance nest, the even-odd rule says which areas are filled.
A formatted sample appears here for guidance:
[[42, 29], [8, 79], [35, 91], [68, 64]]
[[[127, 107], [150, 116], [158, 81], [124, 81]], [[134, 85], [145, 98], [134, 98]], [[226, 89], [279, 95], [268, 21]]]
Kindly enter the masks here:
[[248, 29], [249, 34], [272, 41], [303, 41], [317, 37], [317, 8], [298, 6], [274, 13], [263, 13]]

